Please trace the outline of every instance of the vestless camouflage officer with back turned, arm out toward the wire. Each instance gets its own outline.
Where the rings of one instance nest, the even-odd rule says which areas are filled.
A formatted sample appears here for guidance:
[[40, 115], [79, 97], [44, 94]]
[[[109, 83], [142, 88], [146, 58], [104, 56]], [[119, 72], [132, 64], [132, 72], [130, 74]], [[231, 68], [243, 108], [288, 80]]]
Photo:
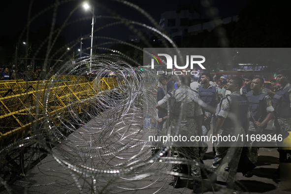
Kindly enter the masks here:
[[[178, 82], [180, 87], [176, 91], [169, 91], [169, 93], [160, 100], [156, 107], [158, 110], [167, 112], [168, 104], [170, 104], [170, 115], [167, 121], [171, 128], [171, 135], [186, 135], [190, 138], [192, 135], [202, 134], [202, 110], [198, 104], [199, 95], [190, 88], [191, 79], [189, 76], [179, 76]], [[174, 100], [174, 101], [172, 101]], [[171, 103], [174, 102], [174, 103]], [[181, 120], [180, 120], [181, 118]], [[194, 193], [202, 191], [201, 187], [201, 171], [200, 158], [207, 148], [203, 147], [199, 154], [199, 143], [191, 142], [192, 147], [178, 147], [183, 142], [175, 142], [172, 146], [173, 157], [186, 158], [193, 161], [191, 164], [191, 174], [194, 177]], [[181, 172], [181, 164], [173, 164], [172, 170], [174, 172]], [[180, 177], [174, 176], [174, 188], [180, 185]]]

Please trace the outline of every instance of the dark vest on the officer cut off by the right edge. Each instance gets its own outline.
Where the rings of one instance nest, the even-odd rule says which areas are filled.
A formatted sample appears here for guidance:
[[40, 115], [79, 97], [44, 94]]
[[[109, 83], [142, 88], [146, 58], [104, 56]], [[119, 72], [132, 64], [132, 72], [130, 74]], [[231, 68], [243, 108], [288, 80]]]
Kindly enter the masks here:
[[284, 90], [279, 90], [273, 97], [272, 106], [275, 109], [277, 117], [290, 118], [291, 108], [290, 99], [287, 96], [287, 92], [291, 89], [291, 86], [285, 88]]

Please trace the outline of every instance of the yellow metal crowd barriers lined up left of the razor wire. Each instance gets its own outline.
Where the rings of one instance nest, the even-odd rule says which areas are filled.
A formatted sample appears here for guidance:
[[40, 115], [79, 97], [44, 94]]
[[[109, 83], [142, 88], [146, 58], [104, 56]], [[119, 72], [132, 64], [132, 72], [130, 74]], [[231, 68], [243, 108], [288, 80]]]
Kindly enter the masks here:
[[[33, 140], [36, 138], [33, 129], [37, 129], [50, 146], [48, 135], [41, 127], [47, 121], [44, 113], [48, 115], [49, 122], [68, 135], [71, 131], [61, 124], [76, 115], [85, 117], [83, 113], [90, 112], [93, 108], [90, 102], [97, 102], [101, 91], [118, 86], [111, 77], [97, 77], [91, 82], [86, 77], [68, 75], [51, 79], [0, 81], [0, 180], [8, 184], [26, 176], [34, 165], [47, 156], [47, 151], [39, 142], [41, 139]], [[32, 137], [31, 141], [27, 140], [28, 137]], [[22, 146], [9, 146], [16, 141], [23, 142]], [[0, 184], [0, 192], [4, 190]]]

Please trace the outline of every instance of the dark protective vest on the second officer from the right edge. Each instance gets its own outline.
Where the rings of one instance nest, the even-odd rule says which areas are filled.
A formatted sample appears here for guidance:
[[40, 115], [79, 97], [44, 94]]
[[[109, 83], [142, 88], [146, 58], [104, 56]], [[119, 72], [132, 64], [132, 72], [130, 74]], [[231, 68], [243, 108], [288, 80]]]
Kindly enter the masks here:
[[262, 122], [266, 117], [266, 109], [263, 102], [266, 95], [262, 93], [254, 96], [253, 92], [250, 91], [246, 96], [249, 100], [250, 111], [253, 113], [255, 121]]

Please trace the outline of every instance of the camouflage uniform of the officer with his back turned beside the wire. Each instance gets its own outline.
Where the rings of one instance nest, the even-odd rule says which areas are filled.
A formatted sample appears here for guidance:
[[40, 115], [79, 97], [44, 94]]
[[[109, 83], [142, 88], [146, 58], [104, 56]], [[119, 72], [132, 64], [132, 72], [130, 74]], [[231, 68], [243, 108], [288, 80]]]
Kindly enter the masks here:
[[[191, 90], [190, 87], [185, 85], [180, 86], [175, 93], [174, 91], [170, 91], [169, 93], [175, 97], [175, 103], [172, 111], [174, 115], [170, 119], [171, 135], [174, 136], [181, 134], [181, 136], [187, 136], [188, 139], [192, 135], [196, 136], [198, 131], [194, 117], [203, 114], [201, 107], [198, 104], [199, 95]], [[167, 105], [170, 104], [170, 100], [173, 100], [173, 98], [170, 97], [170, 94], [167, 94], [158, 102], [158, 104], [162, 108], [167, 108]], [[179, 118], [181, 118], [181, 121]], [[199, 166], [200, 159], [203, 158], [207, 147], [201, 148], [199, 154], [198, 142], [191, 143], [193, 145], [192, 147], [175, 147], [179, 145], [179, 143], [175, 142], [172, 147], [172, 155], [173, 157], [186, 158], [193, 161], [191, 163], [191, 174], [193, 177], [199, 178], [201, 176]], [[173, 171], [181, 172], [181, 167], [181, 164], [173, 164]]]

